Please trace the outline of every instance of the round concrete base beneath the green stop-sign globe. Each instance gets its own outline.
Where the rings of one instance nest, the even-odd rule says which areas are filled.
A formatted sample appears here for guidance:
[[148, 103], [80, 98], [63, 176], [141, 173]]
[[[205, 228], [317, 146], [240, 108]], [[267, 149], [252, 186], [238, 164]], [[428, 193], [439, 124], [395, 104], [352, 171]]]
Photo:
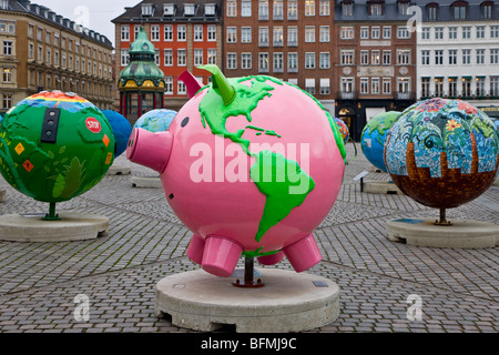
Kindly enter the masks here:
[[104, 236], [109, 219], [85, 213], [60, 213], [60, 221], [43, 221], [44, 214], [0, 216], [0, 240], [10, 242], [68, 242]]

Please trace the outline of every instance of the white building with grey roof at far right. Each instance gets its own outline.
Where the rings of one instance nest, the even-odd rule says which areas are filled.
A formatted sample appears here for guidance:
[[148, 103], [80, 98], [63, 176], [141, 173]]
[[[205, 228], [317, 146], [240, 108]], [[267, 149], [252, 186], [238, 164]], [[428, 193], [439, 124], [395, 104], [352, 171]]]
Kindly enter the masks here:
[[499, 118], [499, 2], [418, 6], [418, 99], [461, 99]]

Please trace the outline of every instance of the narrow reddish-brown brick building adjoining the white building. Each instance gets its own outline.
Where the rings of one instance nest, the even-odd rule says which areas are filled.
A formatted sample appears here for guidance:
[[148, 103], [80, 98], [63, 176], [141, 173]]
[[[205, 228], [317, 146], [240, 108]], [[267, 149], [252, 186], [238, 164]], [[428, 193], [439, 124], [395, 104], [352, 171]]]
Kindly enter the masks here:
[[355, 140], [366, 122], [416, 100], [416, 36], [410, 1], [336, 1], [336, 116]]

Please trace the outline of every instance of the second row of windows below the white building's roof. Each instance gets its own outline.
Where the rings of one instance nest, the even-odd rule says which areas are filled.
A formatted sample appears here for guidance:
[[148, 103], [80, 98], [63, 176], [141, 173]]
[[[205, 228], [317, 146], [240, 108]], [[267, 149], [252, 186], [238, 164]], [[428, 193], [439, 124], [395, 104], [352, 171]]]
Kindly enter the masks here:
[[[460, 55], [458, 55], [459, 52]], [[472, 52], [475, 53], [475, 55], [471, 55]], [[489, 55], [487, 55], [487, 53], [489, 53]], [[489, 59], [489, 61], [487, 61], [487, 59]], [[475, 51], [471, 51], [471, 49], [462, 49], [459, 51], [457, 49], [449, 49], [446, 51], [441, 49], [434, 51], [422, 50], [421, 64], [422, 65], [499, 64], [499, 48], [490, 50], [476, 49]]]

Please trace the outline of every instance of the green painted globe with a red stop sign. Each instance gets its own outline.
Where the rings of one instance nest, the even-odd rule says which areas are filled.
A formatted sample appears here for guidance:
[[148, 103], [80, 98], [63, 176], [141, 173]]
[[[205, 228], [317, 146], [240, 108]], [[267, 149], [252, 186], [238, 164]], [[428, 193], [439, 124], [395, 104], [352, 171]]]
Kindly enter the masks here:
[[95, 105], [73, 93], [29, 97], [0, 125], [0, 172], [38, 201], [68, 201], [89, 191], [113, 160], [111, 125]]

